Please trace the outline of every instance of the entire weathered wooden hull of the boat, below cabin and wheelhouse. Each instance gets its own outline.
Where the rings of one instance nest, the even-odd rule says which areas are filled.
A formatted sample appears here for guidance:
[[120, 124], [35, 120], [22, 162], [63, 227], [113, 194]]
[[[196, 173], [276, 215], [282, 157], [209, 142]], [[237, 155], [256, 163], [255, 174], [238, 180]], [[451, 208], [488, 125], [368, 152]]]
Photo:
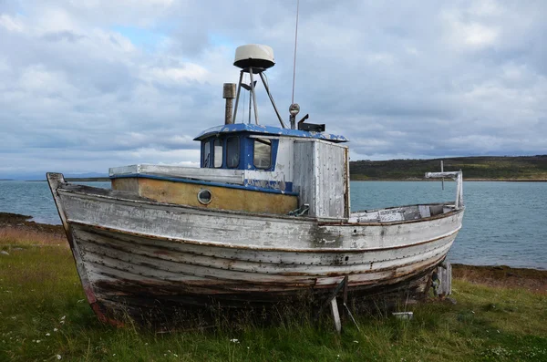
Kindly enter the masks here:
[[407, 222], [204, 211], [48, 175], [88, 302], [101, 320], [188, 305], [239, 307], [325, 295], [423, 293], [463, 210]]

